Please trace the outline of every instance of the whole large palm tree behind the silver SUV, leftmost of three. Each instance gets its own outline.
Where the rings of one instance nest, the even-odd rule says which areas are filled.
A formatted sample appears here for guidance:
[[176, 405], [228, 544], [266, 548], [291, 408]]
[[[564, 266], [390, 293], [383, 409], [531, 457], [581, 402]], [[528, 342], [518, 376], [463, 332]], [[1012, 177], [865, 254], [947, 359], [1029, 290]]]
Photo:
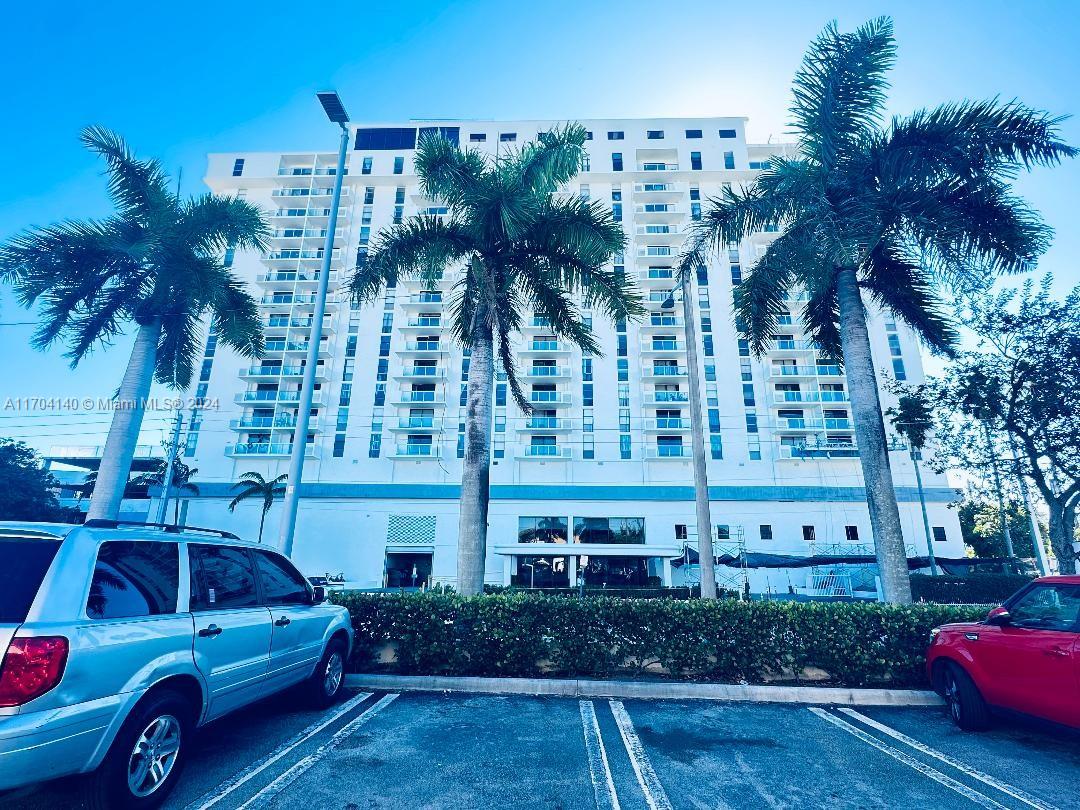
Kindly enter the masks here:
[[203, 316], [211, 315], [218, 341], [244, 356], [261, 353], [256, 301], [221, 257], [227, 247], [262, 249], [270, 231], [258, 208], [243, 200], [181, 200], [158, 161], [137, 159], [107, 130], [84, 130], [82, 143], [105, 160], [116, 214], [14, 237], [0, 246], [0, 276], [23, 306], [40, 306], [35, 348], [64, 341], [72, 367], [135, 326], [87, 514], [113, 519], [150, 384], [188, 387]]

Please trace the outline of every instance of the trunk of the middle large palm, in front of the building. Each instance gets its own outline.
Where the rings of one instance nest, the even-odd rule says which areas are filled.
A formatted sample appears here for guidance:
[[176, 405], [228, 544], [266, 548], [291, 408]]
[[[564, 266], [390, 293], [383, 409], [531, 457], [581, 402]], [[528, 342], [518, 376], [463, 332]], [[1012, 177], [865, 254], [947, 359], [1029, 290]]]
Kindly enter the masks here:
[[458, 592], [473, 596], [484, 591], [487, 558], [487, 508], [490, 498], [491, 384], [495, 356], [486, 312], [477, 308], [470, 346], [465, 404], [465, 458], [461, 472], [461, 512], [458, 522]]

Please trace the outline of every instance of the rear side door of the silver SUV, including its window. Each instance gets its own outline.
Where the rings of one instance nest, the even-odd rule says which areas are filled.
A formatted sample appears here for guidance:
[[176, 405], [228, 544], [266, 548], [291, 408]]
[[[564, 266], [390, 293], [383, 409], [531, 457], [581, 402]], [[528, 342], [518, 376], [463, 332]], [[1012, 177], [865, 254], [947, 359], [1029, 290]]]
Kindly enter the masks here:
[[259, 604], [246, 549], [188, 544], [195, 665], [210, 690], [207, 719], [257, 700], [270, 659], [270, 611]]

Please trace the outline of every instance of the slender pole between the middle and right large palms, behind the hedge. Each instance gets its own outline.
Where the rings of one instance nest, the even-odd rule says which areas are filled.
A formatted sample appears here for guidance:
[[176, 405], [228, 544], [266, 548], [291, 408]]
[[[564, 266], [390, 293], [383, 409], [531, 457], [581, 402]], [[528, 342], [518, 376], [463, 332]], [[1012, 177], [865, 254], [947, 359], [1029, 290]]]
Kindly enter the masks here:
[[708, 507], [708, 475], [705, 470], [705, 435], [701, 418], [701, 377], [698, 374], [698, 325], [690, 297], [690, 270], [679, 270], [679, 286], [667, 293], [661, 309], [675, 308], [675, 289], [683, 293], [683, 339], [686, 340], [687, 387], [690, 389], [690, 453], [693, 457], [693, 500], [698, 521], [698, 567], [701, 598], [716, 598], [716, 568], [713, 559], [713, 514]]

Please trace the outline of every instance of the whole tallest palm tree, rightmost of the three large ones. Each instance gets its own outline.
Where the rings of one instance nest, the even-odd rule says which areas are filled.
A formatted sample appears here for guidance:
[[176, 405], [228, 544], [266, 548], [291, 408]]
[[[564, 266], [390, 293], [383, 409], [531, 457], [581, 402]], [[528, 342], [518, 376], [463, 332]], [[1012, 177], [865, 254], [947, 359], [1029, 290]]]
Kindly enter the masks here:
[[895, 43], [888, 18], [853, 33], [827, 26], [795, 76], [797, 153], [711, 200], [686, 267], [766, 227], [783, 230], [738, 289], [741, 328], [765, 352], [793, 288], [820, 351], [847, 367], [851, 409], [885, 596], [910, 600], [904, 541], [866, 327], [865, 299], [932, 350], [956, 332], [939, 283], [963, 288], [1025, 270], [1050, 229], [1010, 192], [1020, 168], [1076, 150], [1057, 123], [1017, 102], [961, 102], [883, 125]]

